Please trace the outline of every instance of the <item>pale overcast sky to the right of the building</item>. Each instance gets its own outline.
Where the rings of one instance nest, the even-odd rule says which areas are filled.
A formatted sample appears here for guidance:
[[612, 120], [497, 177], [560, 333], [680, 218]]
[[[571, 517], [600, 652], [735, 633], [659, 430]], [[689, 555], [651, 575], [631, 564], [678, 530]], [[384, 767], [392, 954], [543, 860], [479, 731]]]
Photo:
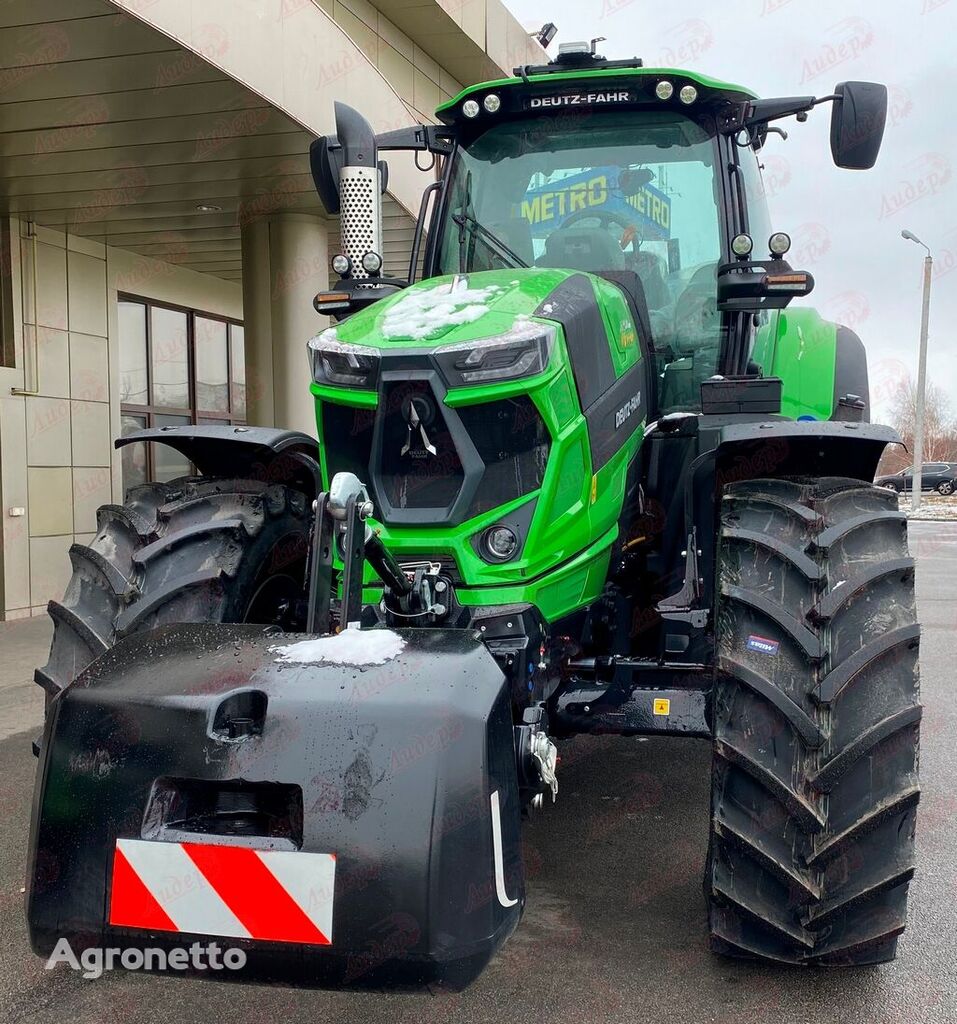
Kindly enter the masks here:
[[[762, 96], [829, 95], [838, 82], [883, 82], [887, 125], [877, 165], [831, 161], [831, 105], [777, 122], [762, 153], [776, 230], [816, 288], [801, 300], [853, 328], [868, 351], [872, 417], [916, 376], [924, 251], [934, 256], [927, 379], [957, 413], [957, 0], [506, 0], [528, 29], [561, 42], [606, 37], [610, 59], [703, 72]], [[757, 240], [755, 239], [755, 249]]]

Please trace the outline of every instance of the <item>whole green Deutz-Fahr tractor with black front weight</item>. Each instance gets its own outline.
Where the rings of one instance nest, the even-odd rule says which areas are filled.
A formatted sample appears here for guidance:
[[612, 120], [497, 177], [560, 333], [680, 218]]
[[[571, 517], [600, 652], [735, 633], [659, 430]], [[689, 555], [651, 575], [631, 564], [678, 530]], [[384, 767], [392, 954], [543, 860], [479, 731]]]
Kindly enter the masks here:
[[[247, 979], [461, 987], [519, 923], [558, 744], [616, 733], [713, 744], [715, 951], [894, 957], [919, 628], [870, 481], [899, 438], [858, 337], [789, 307], [814, 283], [758, 164], [825, 101], [835, 163], [873, 166], [883, 86], [759, 99], [586, 45], [437, 125], [337, 105], [317, 440], [122, 438], [195, 474], [101, 509], [50, 605], [37, 952], [228, 937]], [[392, 151], [433, 176], [402, 281]]]

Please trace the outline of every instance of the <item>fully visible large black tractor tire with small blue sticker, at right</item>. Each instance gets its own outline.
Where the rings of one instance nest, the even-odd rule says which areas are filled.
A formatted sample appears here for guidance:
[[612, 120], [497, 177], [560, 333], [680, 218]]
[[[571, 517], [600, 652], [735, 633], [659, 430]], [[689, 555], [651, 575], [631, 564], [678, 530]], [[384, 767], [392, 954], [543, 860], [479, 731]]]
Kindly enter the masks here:
[[711, 947], [893, 959], [918, 801], [914, 564], [886, 488], [750, 480], [721, 507]]

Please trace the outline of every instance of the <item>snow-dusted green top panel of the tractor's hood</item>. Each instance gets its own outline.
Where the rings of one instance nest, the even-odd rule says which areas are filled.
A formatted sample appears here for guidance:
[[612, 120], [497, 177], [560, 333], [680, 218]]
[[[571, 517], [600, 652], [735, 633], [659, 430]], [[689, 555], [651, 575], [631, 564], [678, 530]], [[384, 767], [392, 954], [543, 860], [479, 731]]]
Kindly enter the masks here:
[[431, 278], [355, 313], [314, 341], [387, 350], [492, 337], [531, 317], [571, 273], [529, 267]]

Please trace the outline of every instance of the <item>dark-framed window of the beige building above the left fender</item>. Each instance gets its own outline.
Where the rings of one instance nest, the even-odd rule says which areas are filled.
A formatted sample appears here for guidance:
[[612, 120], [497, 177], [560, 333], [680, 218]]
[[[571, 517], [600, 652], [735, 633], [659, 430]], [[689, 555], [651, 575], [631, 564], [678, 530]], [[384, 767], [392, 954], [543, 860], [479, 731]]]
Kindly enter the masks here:
[[[120, 414], [124, 436], [144, 427], [246, 423], [243, 325], [194, 309], [121, 296]], [[192, 471], [165, 444], [129, 444], [123, 489]]]

